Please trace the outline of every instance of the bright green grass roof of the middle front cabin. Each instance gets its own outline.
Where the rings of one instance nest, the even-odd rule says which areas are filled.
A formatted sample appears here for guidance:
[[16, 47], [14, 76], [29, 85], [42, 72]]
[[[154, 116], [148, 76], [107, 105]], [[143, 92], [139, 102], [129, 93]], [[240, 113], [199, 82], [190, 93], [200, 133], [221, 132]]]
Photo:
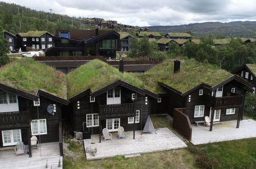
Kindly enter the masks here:
[[111, 83], [122, 80], [135, 87], [146, 88], [143, 81], [133, 73], [120, 72], [100, 60], [92, 60], [67, 75], [68, 99], [88, 89], [95, 92]]

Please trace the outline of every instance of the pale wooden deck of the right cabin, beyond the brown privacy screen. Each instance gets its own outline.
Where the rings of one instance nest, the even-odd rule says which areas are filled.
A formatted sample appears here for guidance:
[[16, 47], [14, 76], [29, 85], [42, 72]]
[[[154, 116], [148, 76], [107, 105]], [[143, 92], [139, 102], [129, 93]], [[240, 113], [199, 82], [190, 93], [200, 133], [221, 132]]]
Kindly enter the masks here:
[[221, 142], [228, 140], [238, 140], [243, 138], [256, 137], [256, 121], [248, 119], [240, 122], [240, 128], [237, 129], [237, 120], [224, 121], [221, 124], [213, 125], [209, 132], [209, 126], [192, 126], [192, 143], [206, 144], [209, 142]]

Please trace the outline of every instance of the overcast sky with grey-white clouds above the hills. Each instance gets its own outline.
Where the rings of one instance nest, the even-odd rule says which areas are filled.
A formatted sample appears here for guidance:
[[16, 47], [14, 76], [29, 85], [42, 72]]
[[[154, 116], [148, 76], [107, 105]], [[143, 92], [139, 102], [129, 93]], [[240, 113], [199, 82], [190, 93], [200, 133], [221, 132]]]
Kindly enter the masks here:
[[[3, 0], [2, 0], [3, 1]], [[75, 17], [100, 17], [134, 26], [256, 20], [256, 0], [4, 0]]]

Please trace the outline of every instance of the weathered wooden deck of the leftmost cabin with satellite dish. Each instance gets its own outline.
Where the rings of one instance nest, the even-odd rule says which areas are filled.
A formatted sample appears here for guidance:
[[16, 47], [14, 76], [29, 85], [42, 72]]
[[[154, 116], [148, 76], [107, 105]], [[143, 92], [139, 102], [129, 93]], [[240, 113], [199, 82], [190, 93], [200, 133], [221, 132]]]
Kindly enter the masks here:
[[[29, 158], [27, 154], [28, 147], [26, 145], [25, 154], [15, 155], [13, 150], [0, 151], [0, 168], [11, 169], [29, 169], [29, 168], [45, 168], [46, 160], [48, 161], [48, 168], [59, 168], [58, 161], [60, 159], [60, 148], [58, 142], [42, 143], [40, 156], [40, 148], [38, 150], [32, 149], [32, 157]], [[62, 157], [61, 157], [62, 164]], [[62, 168], [62, 167], [60, 167]]]

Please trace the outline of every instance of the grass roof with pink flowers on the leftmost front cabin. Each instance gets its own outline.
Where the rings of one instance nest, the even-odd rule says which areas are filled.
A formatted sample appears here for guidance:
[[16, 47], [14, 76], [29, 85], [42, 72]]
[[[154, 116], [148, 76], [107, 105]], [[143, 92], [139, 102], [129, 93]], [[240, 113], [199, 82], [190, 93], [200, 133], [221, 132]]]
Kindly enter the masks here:
[[0, 68], [0, 83], [36, 94], [43, 89], [55, 96], [66, 99], [66, 76], [32, 58], [16, 59]]

